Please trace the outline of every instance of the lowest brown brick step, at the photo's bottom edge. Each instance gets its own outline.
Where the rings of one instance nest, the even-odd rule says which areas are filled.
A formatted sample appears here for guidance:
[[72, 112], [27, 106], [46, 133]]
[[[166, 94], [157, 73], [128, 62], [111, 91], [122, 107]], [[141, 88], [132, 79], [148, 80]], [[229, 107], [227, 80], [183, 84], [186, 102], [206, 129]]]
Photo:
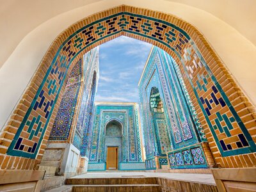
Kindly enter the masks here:
[[158, 184], [127, 184], [127, 185], [81, 185], [73, 186], [72, 192], [160, 192]]

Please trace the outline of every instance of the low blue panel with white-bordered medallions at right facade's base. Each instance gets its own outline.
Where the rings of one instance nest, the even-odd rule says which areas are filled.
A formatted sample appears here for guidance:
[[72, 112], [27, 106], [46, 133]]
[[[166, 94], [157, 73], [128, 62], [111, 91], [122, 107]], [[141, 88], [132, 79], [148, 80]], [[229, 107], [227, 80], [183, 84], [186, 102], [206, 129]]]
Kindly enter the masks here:
[[167, 153], [170, 168], [207, 168], [202, 145], [196, 144]]

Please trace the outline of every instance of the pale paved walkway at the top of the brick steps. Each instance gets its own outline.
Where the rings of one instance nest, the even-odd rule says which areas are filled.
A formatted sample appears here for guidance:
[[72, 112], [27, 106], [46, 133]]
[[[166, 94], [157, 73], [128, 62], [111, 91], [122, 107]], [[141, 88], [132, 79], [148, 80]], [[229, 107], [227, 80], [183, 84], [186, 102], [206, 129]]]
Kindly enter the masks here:
[[216, 185], [211, 174], [196, 173], [154, 173], [154, 172], [88, 172], [72, 178], [113, 178], [113, 177], [161, 177], [172, 180], [199, 182]]

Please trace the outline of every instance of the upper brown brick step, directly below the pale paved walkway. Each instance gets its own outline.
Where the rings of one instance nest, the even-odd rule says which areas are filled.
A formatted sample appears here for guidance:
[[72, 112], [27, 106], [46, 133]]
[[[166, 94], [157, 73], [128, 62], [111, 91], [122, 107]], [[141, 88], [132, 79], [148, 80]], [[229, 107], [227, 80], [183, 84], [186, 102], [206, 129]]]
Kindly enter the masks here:
[[70, 178], [67, 185], [124, 185], [124, 184], [157, 184], [156, 177], [116, 177], [116, 178]]

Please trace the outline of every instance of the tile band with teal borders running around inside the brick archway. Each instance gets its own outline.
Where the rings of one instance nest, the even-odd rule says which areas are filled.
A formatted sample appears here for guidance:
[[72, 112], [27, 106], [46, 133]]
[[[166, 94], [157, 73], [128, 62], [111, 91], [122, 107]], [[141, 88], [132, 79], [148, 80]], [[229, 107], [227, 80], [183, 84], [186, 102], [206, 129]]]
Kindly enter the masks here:
[[[182, 60], [186, 76], [222, 156], [256, 151], [252, 136], [190, 36], [170, 22], [123, 11], [85, 24], [65, 38], [52, 56], [52, 63], [47, 66], [35, 96], [31, 98], [30, 106], [6, 152], [8, 155], [36, 157], [72, 61], [86, 48], [121, 31], [164, 45]], [[187, 53], [184, 54], [185, 50]], [[220, 109], [221, 116], [217, 116], [215, 113]]]

